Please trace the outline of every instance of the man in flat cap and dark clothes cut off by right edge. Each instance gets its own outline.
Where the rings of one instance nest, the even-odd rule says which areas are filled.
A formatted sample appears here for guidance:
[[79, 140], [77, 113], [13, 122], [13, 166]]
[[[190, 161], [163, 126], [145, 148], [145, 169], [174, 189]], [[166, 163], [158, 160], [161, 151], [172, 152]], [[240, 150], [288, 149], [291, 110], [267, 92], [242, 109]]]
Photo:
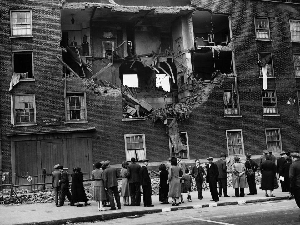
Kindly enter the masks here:
[[[291, 153], [293, 163], [290, 165], [289, 177], [291, 182], [290, 192], [294, 194], [297, 206], [300, 208], [300, 155]], [[299, 215], [300, 216], [300, 215]]]

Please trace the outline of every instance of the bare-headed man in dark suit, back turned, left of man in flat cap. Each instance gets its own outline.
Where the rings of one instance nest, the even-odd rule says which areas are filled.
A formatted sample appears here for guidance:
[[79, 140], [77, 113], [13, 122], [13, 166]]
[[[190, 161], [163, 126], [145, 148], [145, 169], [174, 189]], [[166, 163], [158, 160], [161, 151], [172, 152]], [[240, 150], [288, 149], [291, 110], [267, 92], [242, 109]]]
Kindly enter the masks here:
[[131, 158], [131, 164], [127, 168], [127, 178], [129, 182], [129, 192], [131, 205], [139, 206], [141, 205], [141, 185], [140, 185], [140, 170], [141, 166], [135, 163], [136, 159]]

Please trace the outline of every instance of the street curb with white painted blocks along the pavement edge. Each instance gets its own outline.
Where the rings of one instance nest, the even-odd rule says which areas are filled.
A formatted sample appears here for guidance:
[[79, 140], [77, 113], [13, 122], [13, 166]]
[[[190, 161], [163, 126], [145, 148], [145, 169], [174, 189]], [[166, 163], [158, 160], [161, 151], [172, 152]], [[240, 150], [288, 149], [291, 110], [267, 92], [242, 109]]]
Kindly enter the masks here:
[[[149, 210], [138, 210], [138, 211], [130, 211], [130, 212], [119, 212], [119, 213], [111, 213], [111, 214], [102, 214], [102, 215], [94, 215], [94, 216], [85, 216], [85, 217], [74, 217], [74, 218], [65, 218], [59, 220], [50, 220], [43, 222], [32, 222], [32, 223], [22, 223], [22, 225], [61, 225], [69, 223], [79, 223], [79, 222], [91, 222], [91, 221], [103, 221], [110, 219], [117, 219], [135, 215], [146, 215], [152, 213], [159, 212], [170, 212], [170, 211], [178, 211], [184, 209], [193, 209], [193, 208], [206, 208], [206, 207], [217, 207], [217, 206], [227, 206], [227, 205], [238, 205], [238, 204], [247, 204], [247, 203], [255, 203], [255, 202], [267, 202], [267, 201], [276, 201], [288, 199], [288, 196], [285, 197], [272, 197], [272, 198], [263, 198], [263, 199], [254, 199], [254, 200], [241, 200], [235, 202], [221, 202], [221, 203], [209, 203], [203, 205], [192, 205], [192, 206], [183, 206], [183, 207], [174, 207], [174, 208], [160, 208], [160, 209], [149, 209]], [[20, 224], [14, 224], [20, 225]]]

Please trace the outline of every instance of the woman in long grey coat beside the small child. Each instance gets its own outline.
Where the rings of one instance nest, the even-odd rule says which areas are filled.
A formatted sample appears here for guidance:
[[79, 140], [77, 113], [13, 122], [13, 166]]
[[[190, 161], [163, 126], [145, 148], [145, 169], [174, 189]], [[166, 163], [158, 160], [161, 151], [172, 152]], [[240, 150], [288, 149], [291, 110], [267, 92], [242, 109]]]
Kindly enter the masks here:
[[168, 197], [173, 198], [172, 206], [178, 206], [181, 195], [181, 187], [180, 187], [180, 178], [179, 178], [180, 168], [178, 166], [176, 158], [172, 159], [171, 167], [169, 168], [168, 175], [168, 184], [169, 184], [169, 193]]

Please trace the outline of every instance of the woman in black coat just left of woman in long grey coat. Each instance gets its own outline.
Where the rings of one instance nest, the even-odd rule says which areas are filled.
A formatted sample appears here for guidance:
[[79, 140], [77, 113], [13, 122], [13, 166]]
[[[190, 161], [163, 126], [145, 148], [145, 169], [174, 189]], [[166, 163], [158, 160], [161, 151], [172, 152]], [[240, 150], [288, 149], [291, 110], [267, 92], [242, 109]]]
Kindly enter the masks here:
[[169, 204], [169, 185], [168, 185], [168, 171], [166, 170], [167, 167], [165, 164], [160, 164], [158, 171], [159, 173], [159, 201], [163, 202], [160, 203], [162, 205]]

